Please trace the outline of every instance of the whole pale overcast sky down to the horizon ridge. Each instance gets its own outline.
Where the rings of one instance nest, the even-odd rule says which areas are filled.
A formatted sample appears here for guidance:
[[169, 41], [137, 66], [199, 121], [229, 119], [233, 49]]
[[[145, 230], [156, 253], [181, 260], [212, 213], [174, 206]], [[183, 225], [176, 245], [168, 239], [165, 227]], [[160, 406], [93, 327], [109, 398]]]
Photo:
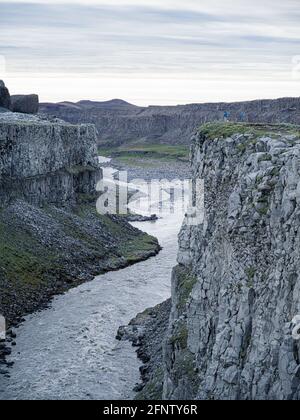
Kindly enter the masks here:
[[0, 79], [41, 101], [300, 96], [299, 0], [0, 0]]

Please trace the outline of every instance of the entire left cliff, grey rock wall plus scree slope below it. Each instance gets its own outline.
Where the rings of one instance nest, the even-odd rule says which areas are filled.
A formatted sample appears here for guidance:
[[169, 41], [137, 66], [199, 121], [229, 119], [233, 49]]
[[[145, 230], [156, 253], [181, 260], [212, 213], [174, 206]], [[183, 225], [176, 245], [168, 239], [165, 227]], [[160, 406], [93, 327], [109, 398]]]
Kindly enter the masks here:
[[155, 238], [97, 213], [96, 155], [92, 125], [0, 114], [0, 314], [9, 324], [159, 251]]

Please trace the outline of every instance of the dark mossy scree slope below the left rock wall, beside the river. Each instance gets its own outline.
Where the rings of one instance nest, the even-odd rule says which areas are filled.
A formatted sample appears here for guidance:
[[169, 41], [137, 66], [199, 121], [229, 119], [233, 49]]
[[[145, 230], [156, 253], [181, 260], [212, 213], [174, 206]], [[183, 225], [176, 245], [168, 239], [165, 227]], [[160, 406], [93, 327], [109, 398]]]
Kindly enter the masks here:
[[159, 249], [156, 238], [119, 217], [99, 215], [91, 203], [68, 210], [24, 203], [2, 210], [0, 313], [14, 321], [55, 293]]

